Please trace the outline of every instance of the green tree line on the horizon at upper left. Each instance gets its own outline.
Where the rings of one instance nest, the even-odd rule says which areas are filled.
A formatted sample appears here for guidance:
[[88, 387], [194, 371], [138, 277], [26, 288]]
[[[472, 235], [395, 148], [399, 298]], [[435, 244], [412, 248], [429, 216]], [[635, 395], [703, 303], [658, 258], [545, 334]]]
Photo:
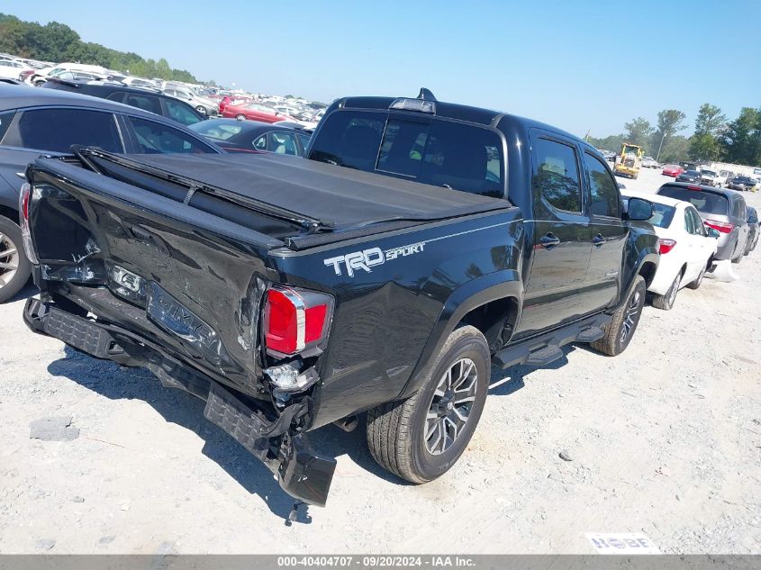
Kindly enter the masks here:
[[139, 77], [201, 83], [189, 71], [171, 68], [166, 59], [143, 59], [131, 51], [111, 50], [99, 43], [82, 41], [66, 24], [50, 22], [43, 26], [9, 14], [0, 14], [0, 52], [41, 61], [102, 66]]

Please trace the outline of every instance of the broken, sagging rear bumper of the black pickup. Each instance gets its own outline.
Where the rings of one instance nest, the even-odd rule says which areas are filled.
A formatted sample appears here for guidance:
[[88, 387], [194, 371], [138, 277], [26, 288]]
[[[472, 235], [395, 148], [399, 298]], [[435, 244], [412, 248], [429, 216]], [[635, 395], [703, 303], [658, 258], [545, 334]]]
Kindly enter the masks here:
[[[231, 390], [183, 366], [159, 348], [147, 346], [148, 339], [126, 331], [120, 331], [120, 339], [116, 339], [103, 325], [36, 298], [29, 299], [24, 306], [23, 320], [32, 331], [62, 340], [93, 357], [145, 366], [165, 387], [181, 388], [205, 400], [206, 419], [270, 467], [285, 493], [299, 501], [325, 506], [336, 460], [318, 456], [306, 434], [291, 428], [291, 421], [303, 412], [305, 403], [288, 406], [276, 421], [267, 421], [262, 413], [241, 402]], [[132, 337], [130, 340], [134, 343], [129, 354], [120, 344], [124, 344], [121, 337], [126, 336]], [[141, 351], [136, 352], [136, 347], [141, 347]]]

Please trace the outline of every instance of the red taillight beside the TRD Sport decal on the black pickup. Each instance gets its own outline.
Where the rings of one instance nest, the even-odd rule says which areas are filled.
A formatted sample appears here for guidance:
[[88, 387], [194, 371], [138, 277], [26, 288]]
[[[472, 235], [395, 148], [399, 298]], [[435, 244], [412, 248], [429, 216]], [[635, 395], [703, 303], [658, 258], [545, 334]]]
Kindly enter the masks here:
[[319, 345], [327, 337], [332, 306], [332, 297], [327, 294], [286, 287], [267, 291], [267, 350], [292, 355]]

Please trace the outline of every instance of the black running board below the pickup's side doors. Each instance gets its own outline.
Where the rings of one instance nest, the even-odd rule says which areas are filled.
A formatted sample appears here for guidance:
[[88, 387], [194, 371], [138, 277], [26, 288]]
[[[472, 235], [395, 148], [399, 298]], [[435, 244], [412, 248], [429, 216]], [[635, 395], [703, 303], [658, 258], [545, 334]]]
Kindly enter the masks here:
[[547, 366], [563, 357], [561, 347], [566, 344], [602, 339], [605, 334], [604, 327], [610, 321], [611, 315], [598, 314], [539, 337], [520, 340], [497, 352], [492, 357], [492, 364], [503, 369], [517, 364]]

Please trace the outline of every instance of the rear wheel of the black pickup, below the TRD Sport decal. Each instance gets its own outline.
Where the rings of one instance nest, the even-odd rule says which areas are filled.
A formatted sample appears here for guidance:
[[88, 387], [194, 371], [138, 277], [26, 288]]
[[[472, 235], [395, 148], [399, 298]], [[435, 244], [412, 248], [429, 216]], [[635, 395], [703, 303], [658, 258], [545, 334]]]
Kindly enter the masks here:
[[452, 331], [419, 392], [367, 412], [367, 446], [377, 463], [412, 483], [446, 473], [476, 430], [490, 376], [481, 331]]

